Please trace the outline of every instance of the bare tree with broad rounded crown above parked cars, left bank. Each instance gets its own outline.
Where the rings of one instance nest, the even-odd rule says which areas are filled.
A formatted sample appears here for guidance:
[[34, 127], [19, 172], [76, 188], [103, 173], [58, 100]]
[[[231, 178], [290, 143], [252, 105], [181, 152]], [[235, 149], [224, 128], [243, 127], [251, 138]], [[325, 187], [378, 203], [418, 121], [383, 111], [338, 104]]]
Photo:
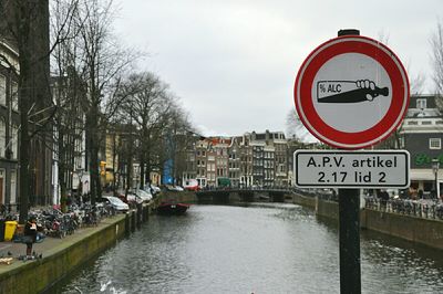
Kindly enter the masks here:
[[[168, 92], [168, 86], [153, 73], [131, 75], [124, 82], [122, 95], [126, 95], [127, 98], [121, 107], [121, 113], [124, 117], [131, 117], [131, 124], [134, 124], [137, 134], [140, 187], [143, 188], [153, 169], [163, 169], [167, 157], [166, 141], [171, 147], [171, 144], [176, 141], [177, 132], [183, 134], [184, 129], [190, 129], [190, 124], [179, 109], [177, 98]], [[165, 133], [166, 129], [173, 128], [171, 133]], [[168, 158], [175, 161], [171, 157], [174, 156], [169, 155]]]

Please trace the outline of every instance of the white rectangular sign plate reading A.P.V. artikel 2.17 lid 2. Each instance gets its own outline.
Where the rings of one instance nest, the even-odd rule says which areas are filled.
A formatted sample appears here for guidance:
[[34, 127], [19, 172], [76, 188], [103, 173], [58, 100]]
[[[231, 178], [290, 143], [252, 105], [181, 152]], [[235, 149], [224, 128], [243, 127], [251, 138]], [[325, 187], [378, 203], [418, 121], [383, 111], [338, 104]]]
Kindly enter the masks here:
[[293, 154], [297, 187], [408, 188], [406, 150], [298, 150]]

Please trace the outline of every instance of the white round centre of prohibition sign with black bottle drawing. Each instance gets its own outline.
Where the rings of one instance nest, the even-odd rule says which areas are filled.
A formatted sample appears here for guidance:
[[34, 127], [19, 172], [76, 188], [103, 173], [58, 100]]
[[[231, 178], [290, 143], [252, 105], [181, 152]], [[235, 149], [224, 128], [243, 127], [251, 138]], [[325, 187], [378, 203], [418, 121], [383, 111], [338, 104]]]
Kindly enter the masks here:
[[333, 56], [319, 69], [313, 84], [311, 97], [316, 112], [339, 132], [358, 133], [372, 128], [391, 105], [392, 86], [387, 71], [364, 54]]

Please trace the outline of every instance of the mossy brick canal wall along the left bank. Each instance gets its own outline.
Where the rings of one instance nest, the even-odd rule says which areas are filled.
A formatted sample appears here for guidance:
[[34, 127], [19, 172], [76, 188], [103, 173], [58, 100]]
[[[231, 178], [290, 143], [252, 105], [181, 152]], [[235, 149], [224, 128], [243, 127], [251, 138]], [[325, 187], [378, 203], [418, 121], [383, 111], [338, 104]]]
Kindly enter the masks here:
[[117, 214], [102, 221], [101, 225], [87, 234], [73, 235], [72, 241], [43, 252], [43, 259], [37, 261], [16, 261], [8, 271], [0, 273], [0, 294], [40, 293], [49, 290], [73, 270], [96, 256], [136, 225], [147, 220], [148, 206], [133, 210], [127, 214]]

